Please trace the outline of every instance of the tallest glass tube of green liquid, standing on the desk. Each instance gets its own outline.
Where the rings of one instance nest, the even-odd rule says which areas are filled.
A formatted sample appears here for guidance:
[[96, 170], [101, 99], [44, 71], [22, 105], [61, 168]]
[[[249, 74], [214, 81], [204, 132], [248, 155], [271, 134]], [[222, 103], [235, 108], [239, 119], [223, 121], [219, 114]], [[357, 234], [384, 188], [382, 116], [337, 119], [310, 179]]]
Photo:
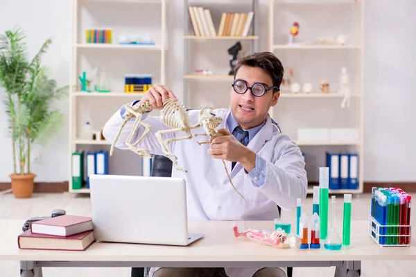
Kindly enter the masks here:
[[328, 235], [328, 199], [329, 199], [329, 168], [319, 168], [319, 216], [320, 239], [325, 240]]

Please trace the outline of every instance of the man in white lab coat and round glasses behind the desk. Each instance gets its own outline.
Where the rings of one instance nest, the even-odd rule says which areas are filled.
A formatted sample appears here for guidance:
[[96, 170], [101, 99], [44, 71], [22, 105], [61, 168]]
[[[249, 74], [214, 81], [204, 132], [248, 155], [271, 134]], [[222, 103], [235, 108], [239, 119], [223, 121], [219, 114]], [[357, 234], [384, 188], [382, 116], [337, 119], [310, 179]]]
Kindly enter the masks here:
[[[277, 104], [280, 95], [279, 86], [284, 74], [280, 60], [269, 52], [254, 53], [240, 57], [235, 72], [229, 91], [230, 109], [212, 111], [223, 118], [218, 129], [225, 136], [217, 137], [211, 144], [196, 143], [196, 140], [206, 141], [204, 136], [170, 144], [177, 163], [188, 171], [181, 172], [174, 167], [172, 177], [182, 177], [187, 182], [189, 220], [273, 220], [280, 216], [277, 205], [288, 211], [295, 208], [297, 198], [306, 196], [302, 152], [289, 136], [281, 134], [268, 115], [269, 108]], [[168, 87], [156, 84], [144, 93], [140, 102], [150, 100], [154, 109], [162, 109], [162, 102], [167, 97], [176, 99]], [[113, 141], [124, 111], [122, 107], [107, 121], [103, 129], [105, 139]], [[197, 122], [198, 113], [199, 110], [189, 111], [191, 124]], [[168, 127], [159, 117], [148, 114], [144, 114], [144, 122], [153, 128], [137, 148], [164, 155], [155, 132]], [[129, 121], [123, 127], [116, 148], [128, 149], [125, 141], [132, 125], [133, 121]], [[137, 141], [143, 132], [144, 127], [140, 126], [133, 141]], [[203, 132], [202, 127], [193, 130], [193, 134]], [[165, 134], [163, 139], [175, 136], [183, 136], [183, 132]], [[229, 184], [222, 159], [247, 204]], [[286, 276], [285, 271], [279, 268], [222, 269], [229, 277], [280, 277]], [[218, 269], [153, 268], [150, 275], [218, 276]]]

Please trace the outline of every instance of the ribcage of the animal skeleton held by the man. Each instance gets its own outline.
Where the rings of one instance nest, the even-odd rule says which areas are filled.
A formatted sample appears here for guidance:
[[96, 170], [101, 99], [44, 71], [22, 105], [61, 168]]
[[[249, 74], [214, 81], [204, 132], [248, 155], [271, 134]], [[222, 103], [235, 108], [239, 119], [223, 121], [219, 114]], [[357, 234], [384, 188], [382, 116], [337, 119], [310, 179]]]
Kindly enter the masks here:
[[164, 102], [162, 114], [163, 123], [168, 127], [183, 128], [189, 125], [187, 110], [177, 100], [173, 101], [171, 98], [168, 98]]

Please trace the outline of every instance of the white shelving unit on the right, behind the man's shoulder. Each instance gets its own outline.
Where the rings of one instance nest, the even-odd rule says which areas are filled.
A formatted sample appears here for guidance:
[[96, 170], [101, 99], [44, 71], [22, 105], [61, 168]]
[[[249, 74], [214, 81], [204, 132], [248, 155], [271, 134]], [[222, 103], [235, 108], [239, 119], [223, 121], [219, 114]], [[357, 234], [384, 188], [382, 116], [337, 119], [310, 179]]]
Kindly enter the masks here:
[[[352, 16], [341, 16], [340, 12], [349, 12]], [[334, 21], [335, 18], [337, 20]], [[289, 44], [289, 29], [294, 21], [300, 24], [300, 30], [295, 37], [294, 44]], [[345, 21], [349, 21], [350, 27], [347, 30], [347, 35], [343, 34], [346, 37], [345, 44], [318, 44], [316, 40], [311, 43], [318, 36], [333, 37], [333, 40], [336, 40], [336, 34], [345, 31], [341, 30], [341, 27], [347, 25], [344, 23]], [[358, 189], [330, 190], [330, 193], [363, 193], [363, 93], [365, 93], [363, 91], [363, 0], [269, 0], [268, 25], [268, 50], [281, 58], [285, 71], [292, 69], [291, 62], [293, 60], [297, 62], [295, 66], [297, 72], [295, 71], [292, 82], [299, 82], [301, 91], [304, 82], [313, 82], [314, 84], [314, 91], [307, 94], [291, 93], [287, 87], [282, 89], [279, 102], [270, 109], [270, 116], [281, 125], [283, 132], [285, 132], [285, 127], [291, 129], [289, 132], [297, 141], [295, 133], [297, 127], [332, 127], [323, 125], [324, 120], [320, 121], [320, 116], [325, 117], [325, 111], [328, 111], [328, 116], [324, 119], [327, 119], [329, 123], [338, 124], [336, 127], [343, 125], [341, 119], [337, 118], [338, 114], [342, 114], [345, 124], [348, 125], [346, 127], [358, 129], [358, 141], [297, 141], [302, 152], [309, 151], [323, 156], [323, 159], [321, 157], [320, 160], [309, 157], [312, 160], [317, 160], [316, 164], [309, 168], [312, 172], [309, 172], [308, 154], [306, 154], [306, 170], [309, 176], [314, 176], [313, 180], [309, 179], [309, 181], [315, 183], [309, 185], [308, 193], [313, 193], [312, 186], [318, 186], [318, 167], [324, 166], [325, 163], [322, 161], [325, 159], [326, 151], [355, 152], [358, 154], [359, 163]], [[322, 34], [319, 34], [320, 31]], [[331, 60], [332, 56], [336, 58]], [[291, 60], [285, 60], [286, 57]], [[346, 64], [352, 64], [347, 71], [350, 76], [351, 104], [350, 107], [344, 108], [340, 105], [344, 96], [336, 93], [339, 82], [336, 73], [331, 71], [332, 67], [330, 67], [334, 66], [333, 64], [338, 64], [340, 60]], [[314, 62], [317, 63], [316, 68], [311, 66], [311, 63]], [[339, 71], [338, 68], [336, 69], [338, 75], [340, 75], [340, 67]], [[328, 71], [331, 72], [328, 73]], [[307, 80], [305, 76], [308, 74], [320, 76], [320, 79]], [[329, 77], [332, 80], [330, 93], [319, 91], [318, 84], [325, 74], [331, 76]], [[292, 114], [289, 115], [289, 113], [296, 106], [300, 109], [304, 107], [304, 110], [294, 115], [295, 120], [290, 121]], [[311, 113], [311, 116], [308, 113]], [[313, 118], [315, 115], [316, 120]], [[351, 126], [352, 122], [354, 122], [354, 126]], [[287, 128], [288, 126], [290, 128]], [[346, 148], [348, 150], [345, 150]]]

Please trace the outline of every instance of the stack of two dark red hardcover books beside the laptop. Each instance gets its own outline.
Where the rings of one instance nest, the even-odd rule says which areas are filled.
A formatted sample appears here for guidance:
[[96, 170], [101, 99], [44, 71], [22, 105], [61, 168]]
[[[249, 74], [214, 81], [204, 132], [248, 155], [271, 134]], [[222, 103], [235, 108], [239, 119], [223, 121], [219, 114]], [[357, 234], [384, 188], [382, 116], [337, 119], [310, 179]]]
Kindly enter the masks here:
[[17, 238], [19, 249], [85, 251], [95, 242], [91, 217], [60, 215], [32, 222]]

